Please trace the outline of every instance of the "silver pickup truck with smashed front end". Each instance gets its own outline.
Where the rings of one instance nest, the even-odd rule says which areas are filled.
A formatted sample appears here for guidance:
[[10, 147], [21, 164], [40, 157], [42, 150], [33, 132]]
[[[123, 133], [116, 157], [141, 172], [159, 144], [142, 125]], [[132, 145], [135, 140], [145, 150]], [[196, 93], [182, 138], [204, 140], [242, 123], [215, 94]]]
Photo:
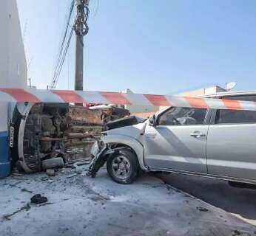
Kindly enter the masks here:
[[[256, 92], [209, 97], [256, 101]], [[121, 184], [132, 183], [139, 170], [256, 184], [255, 136], [256, 111], [170, 107], [140, 124], [105, 131], [92, 147], [90, 174], [107, 162]]]

